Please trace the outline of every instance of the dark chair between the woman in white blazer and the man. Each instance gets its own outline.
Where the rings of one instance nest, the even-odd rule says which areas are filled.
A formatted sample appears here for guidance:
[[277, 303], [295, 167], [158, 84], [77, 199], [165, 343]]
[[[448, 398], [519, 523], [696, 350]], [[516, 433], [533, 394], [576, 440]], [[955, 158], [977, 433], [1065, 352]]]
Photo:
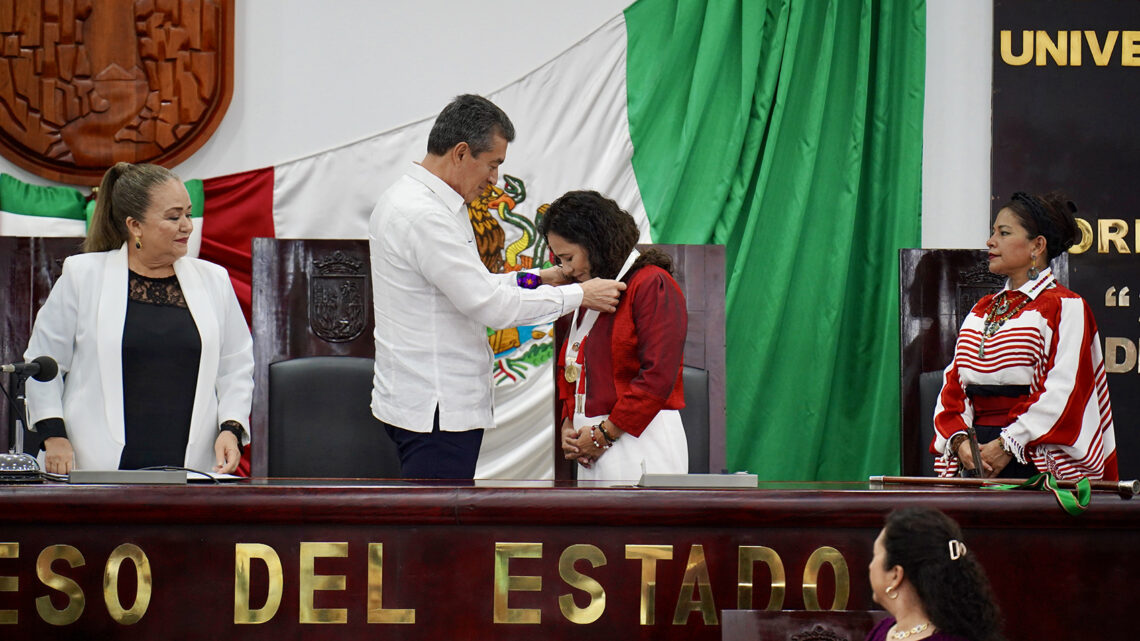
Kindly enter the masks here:
[[398, 476], [368, 409], [368, 242], [254, 238], [252, 299], [253, 476]]

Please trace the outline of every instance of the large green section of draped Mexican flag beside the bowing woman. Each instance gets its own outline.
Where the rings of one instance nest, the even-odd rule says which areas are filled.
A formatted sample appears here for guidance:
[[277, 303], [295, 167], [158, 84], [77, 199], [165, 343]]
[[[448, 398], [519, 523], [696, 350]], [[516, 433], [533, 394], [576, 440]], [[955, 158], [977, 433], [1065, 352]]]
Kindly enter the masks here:
[[730, 471], [897, 473], [925, 1], [641, 0], [626, 24], [653, 241], [726, 246]]

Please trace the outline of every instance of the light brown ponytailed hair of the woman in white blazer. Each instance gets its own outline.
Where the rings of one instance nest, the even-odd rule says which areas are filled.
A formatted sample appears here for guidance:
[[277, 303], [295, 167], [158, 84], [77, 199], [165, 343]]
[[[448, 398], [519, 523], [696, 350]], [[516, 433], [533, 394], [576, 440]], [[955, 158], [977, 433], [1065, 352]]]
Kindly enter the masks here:
[[117, 162], [103, 175], [96, 192], [91, 227], [83, 241], [84, 252], [117, 250], [127, 241], [127, 219], [141, 221], [150, 206], [150, 192], [169, 180], [172, 171], [156, 164]]

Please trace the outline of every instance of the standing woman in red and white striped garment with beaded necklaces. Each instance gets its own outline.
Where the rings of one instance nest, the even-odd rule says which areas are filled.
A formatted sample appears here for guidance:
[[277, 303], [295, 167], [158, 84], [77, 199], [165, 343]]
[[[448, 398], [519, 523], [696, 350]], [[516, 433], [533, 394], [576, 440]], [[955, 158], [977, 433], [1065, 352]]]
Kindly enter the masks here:
[[1117, 478], [1097, 322], [1050, 266], [1080, 236], [1074, 213], [1060, 194], [1024, 192], [997, 212], [986, 248], [990, 271], [1005, 276], [1005, 286], [970, 310], [946, 367], [930, 445], [943, 476], [964, 468], [985, 477]]

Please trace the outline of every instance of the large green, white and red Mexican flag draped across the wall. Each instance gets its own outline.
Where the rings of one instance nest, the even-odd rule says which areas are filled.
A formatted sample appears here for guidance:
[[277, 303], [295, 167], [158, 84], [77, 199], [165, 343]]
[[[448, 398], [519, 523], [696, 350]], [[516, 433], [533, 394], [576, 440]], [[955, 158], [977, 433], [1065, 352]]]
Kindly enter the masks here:
[[[897, 250], [920, 238], [925, 22], [922, 0], [640, 0], [484, 92], [518, 137], [503, 184], [471, 209], [477, 234], [503, 232], [498, 268], [534, 266], [539, 208], [589, 188], [633, 213], [643, 242], [724, 244], [728, 470], [897, 472]], [[202, 180], [199, 255], [230, 269], [247, 309], [250, 238], [367, 237], [434, 115]], [[8, 198], [0, 234], [62, 225]], [[489, 340], [499, 425], [478, 474], [549, 478], [551, 327]]]

